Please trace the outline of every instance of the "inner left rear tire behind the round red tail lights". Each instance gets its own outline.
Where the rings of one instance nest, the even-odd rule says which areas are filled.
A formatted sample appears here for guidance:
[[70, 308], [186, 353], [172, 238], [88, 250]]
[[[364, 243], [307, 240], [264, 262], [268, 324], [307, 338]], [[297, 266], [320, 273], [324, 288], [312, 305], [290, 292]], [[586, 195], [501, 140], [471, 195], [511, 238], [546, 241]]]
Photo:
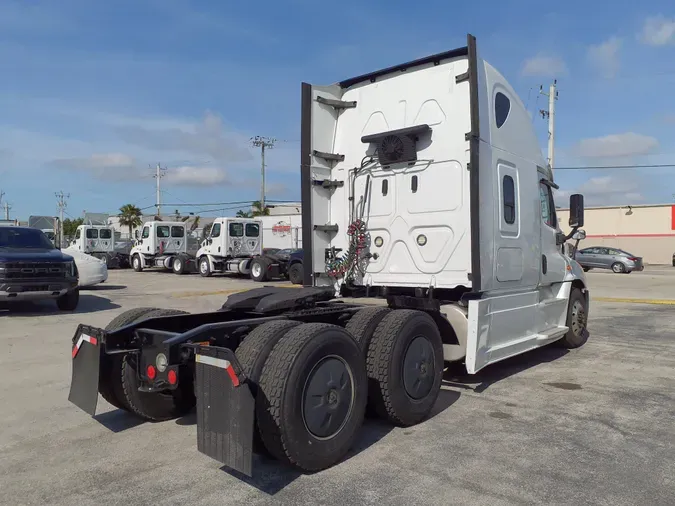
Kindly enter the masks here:
[[[155, 309], [144, 315], [143, 320], [160, 316], [172, 316], [188, 314], [186, 311], [174, 309]], [[141, 320], [141, 318], [139, 318]], [[190, 411], [196, 403], [194, 396], [194, 377], [187, 374], [189, 369], [181, 368], [179, 371], [179, 383], [176, 390], [165, 392], [141, 392], [138, 390], [140, 379], [138, 374], [138, 356], [133, 353], [126, 354], [120, 360], [119, 372], [122, 387], [120, 399], [129, 406], [129, 410], [145, 420], [158, 422], [170, 420]]]

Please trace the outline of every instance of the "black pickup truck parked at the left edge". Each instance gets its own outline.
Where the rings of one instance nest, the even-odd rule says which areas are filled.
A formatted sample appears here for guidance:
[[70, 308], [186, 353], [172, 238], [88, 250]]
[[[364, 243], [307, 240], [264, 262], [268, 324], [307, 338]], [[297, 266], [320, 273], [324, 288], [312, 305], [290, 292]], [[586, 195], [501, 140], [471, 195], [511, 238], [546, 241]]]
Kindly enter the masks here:
[[0, 227], [0, 306], [41, 299], [56, 299], [62, 311], [77, 308], [75, 260], [55, 248], [41, 230]]

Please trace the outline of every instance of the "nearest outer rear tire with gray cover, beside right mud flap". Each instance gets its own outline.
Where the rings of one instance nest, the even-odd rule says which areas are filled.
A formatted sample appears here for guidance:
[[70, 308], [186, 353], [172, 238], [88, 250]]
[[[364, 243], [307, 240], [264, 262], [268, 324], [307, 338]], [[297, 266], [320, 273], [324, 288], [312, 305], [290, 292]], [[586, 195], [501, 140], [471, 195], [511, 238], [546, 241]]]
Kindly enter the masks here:
[[305, 471], [326, 469], [352, 447], [364, 419], [363, 354], [342, 327], [305, 323], [272, 349], [256, 415], [267, 450]]

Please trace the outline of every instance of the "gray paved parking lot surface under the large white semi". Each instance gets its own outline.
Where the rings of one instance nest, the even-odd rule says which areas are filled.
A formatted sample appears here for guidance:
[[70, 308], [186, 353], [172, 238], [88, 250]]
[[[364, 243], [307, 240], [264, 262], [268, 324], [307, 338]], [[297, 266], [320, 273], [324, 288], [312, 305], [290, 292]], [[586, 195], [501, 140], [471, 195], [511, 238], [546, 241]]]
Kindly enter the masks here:
[[424, 423], [369, 420], [339, 465], [299, 474], [256, 457], [252, 479], [197, 451], [194, 415], [139, 424], [100, 399], [92, 419], [67, 397], [78, 323], [214, 310], [260, 285], [111, 271], [75, 314], [0, 312], [0, 504], [675, 504], [675, 268], [588, 277], [584, 347], [448, 371]]

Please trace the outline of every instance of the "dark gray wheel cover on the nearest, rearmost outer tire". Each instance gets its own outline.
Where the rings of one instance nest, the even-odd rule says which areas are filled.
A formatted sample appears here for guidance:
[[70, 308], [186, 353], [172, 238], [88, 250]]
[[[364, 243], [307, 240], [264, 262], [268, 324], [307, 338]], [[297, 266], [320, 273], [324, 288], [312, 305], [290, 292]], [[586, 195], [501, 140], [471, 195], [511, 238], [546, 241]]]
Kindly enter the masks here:
[[345, 426], [353, 406], [351, 368], [342, 357], [323, 358], [312, 368], [303, 388], [305, 428], [317, 439], [331, 439]]

